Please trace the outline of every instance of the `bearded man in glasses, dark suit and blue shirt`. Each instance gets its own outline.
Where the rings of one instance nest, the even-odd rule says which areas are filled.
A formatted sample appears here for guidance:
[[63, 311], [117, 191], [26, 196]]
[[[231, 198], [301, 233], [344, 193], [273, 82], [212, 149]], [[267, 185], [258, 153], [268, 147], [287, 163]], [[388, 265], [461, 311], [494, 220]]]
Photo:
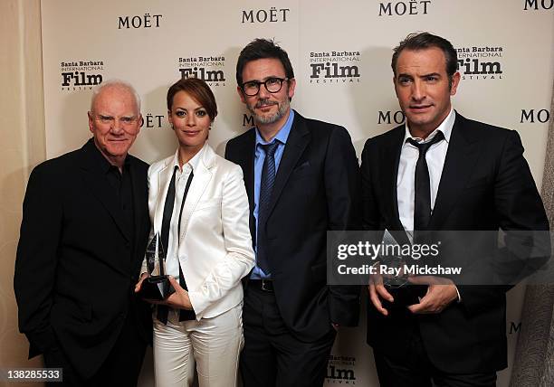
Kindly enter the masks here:
[[241, 52], [237, 91], [255, 127], [229, 141], [250, 202], [256, 266], [244, 281], [245, 387], [315, 387], [339, 326], [358, 323], [358, 287], [327, 286], [328, 230], [359, 227], [359, 171], [344, 127], [291, 110], [296, 80], [281, 47]]

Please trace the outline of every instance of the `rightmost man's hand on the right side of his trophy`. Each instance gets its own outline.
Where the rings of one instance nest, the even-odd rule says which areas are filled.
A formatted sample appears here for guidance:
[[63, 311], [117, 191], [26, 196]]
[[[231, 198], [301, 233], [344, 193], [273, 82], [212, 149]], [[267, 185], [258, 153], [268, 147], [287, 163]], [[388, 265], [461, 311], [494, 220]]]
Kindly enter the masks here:
[[408, 277], [408, 281], [414, 285], [428, 285], [427, 293], [419, 304], [410, 305], [407, 307], [412, 313], [416, 314], [434, 314], [441, 313], [445, 307], [458, 299], [458, 292], [452, 279], [434, 277], [434, 276], [418, 276]]

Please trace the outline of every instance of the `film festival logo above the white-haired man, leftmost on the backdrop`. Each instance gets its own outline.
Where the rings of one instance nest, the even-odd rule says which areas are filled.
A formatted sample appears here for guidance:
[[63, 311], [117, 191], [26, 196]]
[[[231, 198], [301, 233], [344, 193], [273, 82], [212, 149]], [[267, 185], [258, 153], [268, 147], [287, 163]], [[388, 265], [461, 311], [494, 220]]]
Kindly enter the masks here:
[[92, 90], [104, 80], [105, 61], [62, 61], [60, 76], [63, 91]]

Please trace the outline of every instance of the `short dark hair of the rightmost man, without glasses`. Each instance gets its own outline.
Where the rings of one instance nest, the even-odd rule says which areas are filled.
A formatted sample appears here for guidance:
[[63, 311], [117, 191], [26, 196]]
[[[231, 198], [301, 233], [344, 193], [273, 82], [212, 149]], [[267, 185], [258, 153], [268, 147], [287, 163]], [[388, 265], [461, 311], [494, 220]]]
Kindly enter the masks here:
[[448, 74], [448, 79], [452, 85], [452, 77], [458, 69], [458, 55], [454, 50], [454, 47], [451, 42], [448, 42], [446, 39], [434, 35], [433, 33], [410, 33], [406, 36], [406, 39], [400, 42], [393, 53], [393, 58], [390, 63], [393, 73], [396, 77], [396, 62], [400, 53], [404, 50], [418, 51], [425, 50], [428, 48], [436, 47], [441, 49], [444, 52], [444, 58], [446, 59], [446, 74]]

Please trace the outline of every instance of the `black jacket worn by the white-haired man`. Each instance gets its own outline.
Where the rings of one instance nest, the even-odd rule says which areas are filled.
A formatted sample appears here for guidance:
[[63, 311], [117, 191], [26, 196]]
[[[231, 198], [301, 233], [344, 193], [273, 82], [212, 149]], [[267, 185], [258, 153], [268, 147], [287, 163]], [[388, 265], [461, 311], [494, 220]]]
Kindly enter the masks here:
[[98, 157], [91, 139], [33, 169], [14, 276], [30, 356], [60, 346], [84, 377], [98, 370], [129, 313], [147, 342], [151, 335], [150, 308], [133, 294], [150, 229], [148, 165], [128, 156], [135, 216], [129, 230]]

